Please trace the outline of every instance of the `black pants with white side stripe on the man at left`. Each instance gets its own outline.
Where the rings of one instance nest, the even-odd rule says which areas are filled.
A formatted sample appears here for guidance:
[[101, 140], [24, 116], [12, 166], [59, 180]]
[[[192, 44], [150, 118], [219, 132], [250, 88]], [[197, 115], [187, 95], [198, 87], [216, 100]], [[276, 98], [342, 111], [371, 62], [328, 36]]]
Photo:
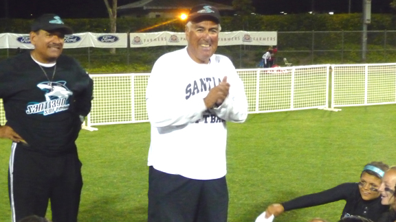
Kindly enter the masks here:
[[32, 214], [45, 217], [50, 199], [52, 221], [76, 222], [83, 188], [81, 165], [76, 149], [45, 156], [12, 143], [8, 171], [12, 221]]

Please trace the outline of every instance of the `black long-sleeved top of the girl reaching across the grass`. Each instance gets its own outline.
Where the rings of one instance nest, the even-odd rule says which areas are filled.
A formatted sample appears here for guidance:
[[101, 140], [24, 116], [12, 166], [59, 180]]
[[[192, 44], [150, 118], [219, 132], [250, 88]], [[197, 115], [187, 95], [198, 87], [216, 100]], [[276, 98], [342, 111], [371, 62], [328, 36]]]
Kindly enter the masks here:
[[383, 206], [381, 204], [381, 197], [370, 201], [362, 199], [358, 183], [340, 184], [320, 193], [297, 197], [296, 199], [287, 201], [282, 205], [285, 208], [285, 211], [288, 211], [298, 208], [319, 206], [342, 199], [347, 201], [347, 204], [345, 204], [344, 210], [342, 210], [341, 218], [354, 215], [366, 217], [374, 222], [378, 222], [382, 217], [386, 217], [384, 216], [384, 213], [388, 212], [388, 206]]

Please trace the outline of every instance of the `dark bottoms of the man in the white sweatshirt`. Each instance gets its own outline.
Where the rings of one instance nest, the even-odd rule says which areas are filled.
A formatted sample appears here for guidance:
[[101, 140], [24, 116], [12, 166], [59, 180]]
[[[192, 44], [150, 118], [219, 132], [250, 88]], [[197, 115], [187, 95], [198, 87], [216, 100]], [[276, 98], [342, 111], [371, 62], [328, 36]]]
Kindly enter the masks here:
[[192, 180], [148, 171], [148, 222], [226, 222], [228, 189], [225, 177]]

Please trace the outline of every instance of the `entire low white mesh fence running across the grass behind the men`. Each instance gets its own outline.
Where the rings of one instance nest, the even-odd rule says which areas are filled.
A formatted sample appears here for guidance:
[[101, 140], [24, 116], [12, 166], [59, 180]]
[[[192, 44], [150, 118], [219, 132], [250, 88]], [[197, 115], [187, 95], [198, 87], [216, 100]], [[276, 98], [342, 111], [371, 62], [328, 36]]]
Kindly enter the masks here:
[[[396, 63], [324, 64], [237, 72], [245, 86], [249, 113], [396, 103]], [[145, 95], [149, 76], [150, 73], [91, 75], [94, 100], [87, 125], [147, 122]], [[2, 109], [0, 123], [5, 123]]]

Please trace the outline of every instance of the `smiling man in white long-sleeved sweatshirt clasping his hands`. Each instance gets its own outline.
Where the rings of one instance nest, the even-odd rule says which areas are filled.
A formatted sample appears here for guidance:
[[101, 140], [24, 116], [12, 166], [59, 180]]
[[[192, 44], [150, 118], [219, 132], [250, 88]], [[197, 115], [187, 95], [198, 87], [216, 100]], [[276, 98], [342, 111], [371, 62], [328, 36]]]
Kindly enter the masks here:
[[248, 116], [243, 82], [225, 56], [214, 54], [220, 14], [192, 8], [184, 49], [153, 66], [146, 90], [148, 222], [226, 222], [226, 121]]

